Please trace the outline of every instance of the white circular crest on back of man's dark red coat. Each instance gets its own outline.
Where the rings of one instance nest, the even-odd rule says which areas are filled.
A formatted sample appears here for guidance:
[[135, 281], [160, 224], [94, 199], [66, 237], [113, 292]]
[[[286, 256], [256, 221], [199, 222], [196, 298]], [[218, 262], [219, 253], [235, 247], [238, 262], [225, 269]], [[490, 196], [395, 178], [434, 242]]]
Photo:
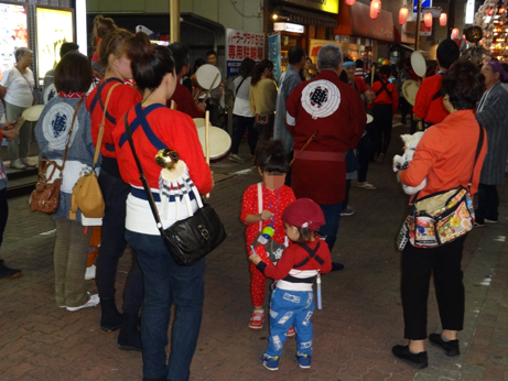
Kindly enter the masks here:
[[333, 115], [341, 105], [341, 91], [329, 80], [311, 81], [302, 91], [302, 106], [312, 119]]

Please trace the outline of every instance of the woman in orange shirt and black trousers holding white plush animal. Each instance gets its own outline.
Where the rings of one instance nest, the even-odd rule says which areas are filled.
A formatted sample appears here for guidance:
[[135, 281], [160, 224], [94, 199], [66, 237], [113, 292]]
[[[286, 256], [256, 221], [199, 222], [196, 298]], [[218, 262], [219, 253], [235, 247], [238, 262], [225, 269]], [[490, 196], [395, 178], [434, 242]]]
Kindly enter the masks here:
[[[487, 143], [484, 134], [480, 153], [475, 163], [480, 127], [474, 108], [482, 97], [485, 78], [471, 62], [457, 61], [443, 75], [441, 92], [450, 115], [429, 128], [406, 171], [399, 171], [399, 179], [418, 186], [426, 177], [426, 186], [418, 198], [454, 188], [467, 187], [471, 194], [478, 188], [479, 173]], [[460, 141], [460, 144], [457, 144]], [[442, 348], [446, 356], [458, 356], [457, 331], [463, 329], [465, 295], [461, 270], [462, 251], [466, 235], [444, 246], [420, 248], [406, 243], [402, 250], [402, 308], [407, 346], [394, 346], [393, 355], [417, 369], [428, 367], [425, 351], [426, 309], [431, 274], [434, 275], [435, 294], [440, 309], [441, 334], [431, 334], [432, 345]]]

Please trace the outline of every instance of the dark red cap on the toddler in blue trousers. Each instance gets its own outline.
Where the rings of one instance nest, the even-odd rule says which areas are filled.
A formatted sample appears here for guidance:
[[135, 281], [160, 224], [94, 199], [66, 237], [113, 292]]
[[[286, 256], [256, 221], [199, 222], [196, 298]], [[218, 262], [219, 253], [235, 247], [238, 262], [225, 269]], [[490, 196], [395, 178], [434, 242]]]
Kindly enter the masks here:
[[321, 207], [312, 199], [299, 198], [285, 208], [282, 221], [299, 228], [317, 230], [325, 225], [325, 216]]

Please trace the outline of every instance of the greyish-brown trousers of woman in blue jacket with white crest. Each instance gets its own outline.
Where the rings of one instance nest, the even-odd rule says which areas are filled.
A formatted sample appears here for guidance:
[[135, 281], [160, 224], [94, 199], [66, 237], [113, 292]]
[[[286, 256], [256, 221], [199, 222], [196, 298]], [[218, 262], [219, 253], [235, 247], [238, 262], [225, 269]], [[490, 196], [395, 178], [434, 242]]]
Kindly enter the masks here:
[[83, 235], [82, 222], [65, 217], [56, 218], [55, 226], [55, 302], [57, 306], [78, 307], [89, 300], [85, 272], [91, 229]]

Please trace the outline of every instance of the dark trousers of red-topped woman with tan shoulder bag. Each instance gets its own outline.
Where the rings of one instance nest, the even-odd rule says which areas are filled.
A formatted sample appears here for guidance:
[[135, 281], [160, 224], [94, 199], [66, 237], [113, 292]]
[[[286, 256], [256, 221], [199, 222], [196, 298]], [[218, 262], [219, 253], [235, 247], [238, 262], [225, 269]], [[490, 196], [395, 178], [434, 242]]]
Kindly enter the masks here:
[[[100, 190], [106, 205], [102, 218], [101, 241], [96, 265], [96, 283], [101, 300], [115, 298], [118, 261], [126, 250], [126, 200], [130, 185], [121, 178], [110, 175], [104, 168], [99, 175]], [[143, 303], [143, 276], [134, 255], [132, 268], [127, 276], [123, 291], [122, 311], [139, 314]]]

